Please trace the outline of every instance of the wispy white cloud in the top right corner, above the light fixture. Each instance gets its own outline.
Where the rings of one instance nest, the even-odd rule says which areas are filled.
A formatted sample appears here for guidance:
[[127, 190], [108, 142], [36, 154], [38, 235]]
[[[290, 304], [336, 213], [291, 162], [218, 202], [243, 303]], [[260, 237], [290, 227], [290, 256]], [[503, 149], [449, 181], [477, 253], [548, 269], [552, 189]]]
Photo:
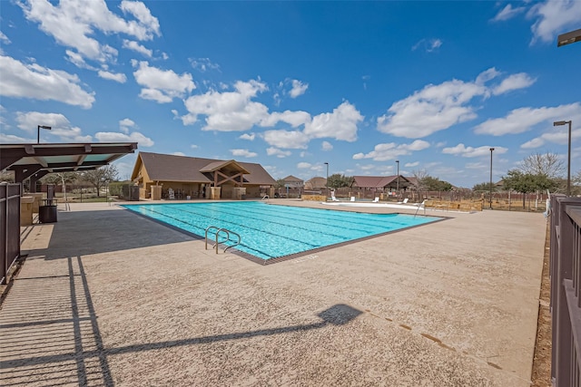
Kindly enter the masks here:
[[558, 34], [579, 28], [581, 20], [581, 2], [578, 0], [547, 0], [534, 5], [528, 13], [537, 18], [531, 26], [532, 43], [537, 40], [552, 42]]

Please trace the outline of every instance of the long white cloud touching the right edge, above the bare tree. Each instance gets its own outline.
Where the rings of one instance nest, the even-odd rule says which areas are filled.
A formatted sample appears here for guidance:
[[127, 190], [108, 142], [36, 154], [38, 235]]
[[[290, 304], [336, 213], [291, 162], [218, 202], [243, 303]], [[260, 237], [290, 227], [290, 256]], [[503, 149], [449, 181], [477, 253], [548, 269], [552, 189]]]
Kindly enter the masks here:
[[581, 103], [579, 102], [560, 105], [555, 108], [519, 108], [510, 111], [504, 118], [482, 122], [474, 129], [474, 132], [493, 136], [517, 134], [529, 131], [532, 127], [542, 122], [546, 122], [547, 126], [553, 126], [553, 121], [578, 115], [579, 111], [581, 111]]

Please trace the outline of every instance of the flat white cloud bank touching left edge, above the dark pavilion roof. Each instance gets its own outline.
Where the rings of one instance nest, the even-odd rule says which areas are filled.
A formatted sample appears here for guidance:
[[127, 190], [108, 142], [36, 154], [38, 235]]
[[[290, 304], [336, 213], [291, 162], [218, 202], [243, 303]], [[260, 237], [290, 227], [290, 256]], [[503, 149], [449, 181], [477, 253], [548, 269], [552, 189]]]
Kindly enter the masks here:
[[5, 97], [53, 100], [84, 109], [89, 109], [94, 102], [94, 92], [85, 92], [74, 74], [35, 63], [24, 64], [9, 56], [0, 56], [0, 73], [0, 95]]

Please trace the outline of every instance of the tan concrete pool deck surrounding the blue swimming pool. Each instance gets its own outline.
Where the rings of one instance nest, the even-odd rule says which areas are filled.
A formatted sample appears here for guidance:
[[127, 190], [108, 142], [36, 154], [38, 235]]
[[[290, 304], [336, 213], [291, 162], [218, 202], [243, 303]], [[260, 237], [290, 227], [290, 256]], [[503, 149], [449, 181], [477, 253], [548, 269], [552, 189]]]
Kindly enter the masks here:
[[546, 219], [439, 215], [260, 266], [73, 203], [23, 228], [0, 384], [528, 386]]

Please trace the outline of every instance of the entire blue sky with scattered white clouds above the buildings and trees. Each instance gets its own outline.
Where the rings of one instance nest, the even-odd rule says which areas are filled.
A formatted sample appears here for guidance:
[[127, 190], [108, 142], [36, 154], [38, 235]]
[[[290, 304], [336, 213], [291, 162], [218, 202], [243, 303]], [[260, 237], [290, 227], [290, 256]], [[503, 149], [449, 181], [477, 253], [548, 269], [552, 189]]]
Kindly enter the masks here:
[[[0, 142], [137, 141], [275, 179], [581, 166], [581, 1], [0, 1]], [[135, 155], [116, 162], [127, 179]]]

